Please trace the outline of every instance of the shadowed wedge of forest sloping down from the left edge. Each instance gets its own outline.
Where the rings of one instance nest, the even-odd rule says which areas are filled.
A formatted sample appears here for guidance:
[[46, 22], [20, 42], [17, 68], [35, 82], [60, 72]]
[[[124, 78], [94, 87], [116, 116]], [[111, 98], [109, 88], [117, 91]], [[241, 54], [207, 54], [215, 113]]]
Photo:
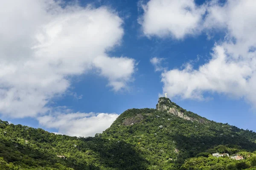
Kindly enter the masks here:
[[35, 149], [29, 144], [21, 145], [3, 138], [0, 139], [0, 157], [8, 163], [13, 162], [15, 166], [24, 168], [41, 166], [56, 169], [71, 167], [75, 170], [99, 170], [93, 165], [74, 164], [73, 160], [58, 158], [54, 153], [43, 152], [40, 148]]

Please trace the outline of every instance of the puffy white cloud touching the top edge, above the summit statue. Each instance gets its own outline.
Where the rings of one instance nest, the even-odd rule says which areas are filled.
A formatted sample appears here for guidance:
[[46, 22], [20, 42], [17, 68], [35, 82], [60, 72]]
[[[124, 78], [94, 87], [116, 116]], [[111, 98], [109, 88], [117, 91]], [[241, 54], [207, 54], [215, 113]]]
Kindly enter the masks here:
[[197, 34], [205, 12], [204, 6], [196, 6], [194, 0], [150, 0], [142, 5], [143, 16], [139, 18], [143, 33], [150, 36], [172, 36], [182, 39]]

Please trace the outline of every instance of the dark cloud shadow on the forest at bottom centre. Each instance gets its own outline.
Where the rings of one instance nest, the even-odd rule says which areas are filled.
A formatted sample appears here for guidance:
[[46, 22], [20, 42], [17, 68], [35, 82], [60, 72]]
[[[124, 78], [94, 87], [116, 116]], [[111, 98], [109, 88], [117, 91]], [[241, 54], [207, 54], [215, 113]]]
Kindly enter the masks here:
[[106, 168], [115, 168], [116, 170], [147, 169], [148, 162], [136, 153], [132, 144], [99, 137], [91, 138], [91, 142], [90, 149], [100, 154], [101, 161]]

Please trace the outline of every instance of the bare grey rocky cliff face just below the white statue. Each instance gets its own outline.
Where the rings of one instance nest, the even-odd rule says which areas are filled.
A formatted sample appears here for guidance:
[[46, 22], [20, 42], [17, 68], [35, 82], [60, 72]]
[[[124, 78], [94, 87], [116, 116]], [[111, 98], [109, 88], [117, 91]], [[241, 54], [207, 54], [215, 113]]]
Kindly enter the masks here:
[[[178, 117], [180, 117], [182, 119], [185, 119], [185, 120], [190, 120], [192, 122], [194, 122], [194, 121], [199, 122], [199, 123], [209, 122], [209, 121], [207, 121], [207, 119], [204, 119], [204, 118], [202, 118], [201, 116], [198, 116], [198, 115], [195, 116], [195, 117], [187, 116], [186, 113], [185, 113], [186, 110], [180, 108], [180, 106], [176, 105], [169, 98], [165, 98], [165, 97], [160, 97], [158, 99], [156, 109], [158, 111], [167, 111], [168, 113], [171, 113], [171, 114], [173, 114], [175, 116], [178, 116]], [[183, 111], [180, 111], [180, 110], [183, 110]]]

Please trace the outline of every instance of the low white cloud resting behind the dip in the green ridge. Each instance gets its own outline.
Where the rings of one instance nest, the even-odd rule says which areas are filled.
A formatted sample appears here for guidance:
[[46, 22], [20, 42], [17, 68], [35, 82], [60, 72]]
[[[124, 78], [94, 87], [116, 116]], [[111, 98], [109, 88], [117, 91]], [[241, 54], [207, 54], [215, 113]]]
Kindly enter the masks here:
[[54, 113], [38, 117], [41, 125], [58, 129], [58, 134], [94, 136], [106, 130], [119, 115], [116, 113]]

